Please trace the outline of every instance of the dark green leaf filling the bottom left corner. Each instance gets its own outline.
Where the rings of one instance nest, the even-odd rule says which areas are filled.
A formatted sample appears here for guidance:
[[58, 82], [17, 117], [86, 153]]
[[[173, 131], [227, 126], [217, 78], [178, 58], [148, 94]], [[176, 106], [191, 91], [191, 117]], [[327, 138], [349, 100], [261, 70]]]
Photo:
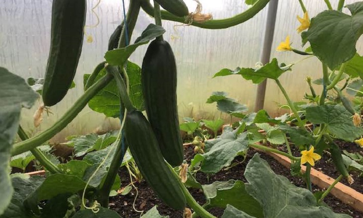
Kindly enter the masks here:
[[23, 202], [43, 181], [44, 178], [40, 176], [12, 178], [14, 193], [9, 206], [0, 218], [33, 218], [34, 216], [26, 209]]

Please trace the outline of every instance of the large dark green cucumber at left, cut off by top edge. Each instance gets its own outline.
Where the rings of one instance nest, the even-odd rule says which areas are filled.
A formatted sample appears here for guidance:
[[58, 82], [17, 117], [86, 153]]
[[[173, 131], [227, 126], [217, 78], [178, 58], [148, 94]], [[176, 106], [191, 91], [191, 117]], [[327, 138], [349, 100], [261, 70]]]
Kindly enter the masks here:
[[86, 0], [53, 0], [51, 47], [43, 85], [43, 102], [60, 102], [70, 88], [82, 51]]

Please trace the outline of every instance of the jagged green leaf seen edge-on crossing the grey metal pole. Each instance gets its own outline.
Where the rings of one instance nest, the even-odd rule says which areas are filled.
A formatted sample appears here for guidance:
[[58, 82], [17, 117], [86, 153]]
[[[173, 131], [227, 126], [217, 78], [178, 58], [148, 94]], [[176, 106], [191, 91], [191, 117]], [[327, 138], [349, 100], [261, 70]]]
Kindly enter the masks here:
[[239, 74], [247, 80], [252, 80], [253, 83], [260, 83], [266, 78], [276, 80], [280, 77], [281, 74], [287, 71], [290, 71], [290, 67], [286, 67], [284, 64], [282, 67], [280, 67], [277, 59], [274, 58], [270, 63], [267, 63], [261, 68], [237, 68], [234, 71], [229, 69], [223, 69], [216, 73], [213, 77]]

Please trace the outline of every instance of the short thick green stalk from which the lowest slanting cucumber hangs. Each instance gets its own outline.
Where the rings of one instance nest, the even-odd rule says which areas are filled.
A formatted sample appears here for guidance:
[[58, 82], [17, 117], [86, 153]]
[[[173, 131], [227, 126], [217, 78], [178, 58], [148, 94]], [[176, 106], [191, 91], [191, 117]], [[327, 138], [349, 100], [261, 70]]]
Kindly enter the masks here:
[[133, 111], [135, 110], [133, 104], [130, 101], [129, 95], [127, 94], [127, 90], [126, 90], [126, 83], [124, 81], [124, 79], [122, 78], [118, 67], [117, 66], [107, 66], [106, 67], [106, 71], [107, 73], [110, 73], [111, 75], [113, 75], [113, 77], [116, 80], [116, 84], [117, 84], [117, 88], [119, 89], [119, 93], [120, 93], [120, 99], [122, 101], [122, 104], [124, 104], [125, 108], [128, 111]]

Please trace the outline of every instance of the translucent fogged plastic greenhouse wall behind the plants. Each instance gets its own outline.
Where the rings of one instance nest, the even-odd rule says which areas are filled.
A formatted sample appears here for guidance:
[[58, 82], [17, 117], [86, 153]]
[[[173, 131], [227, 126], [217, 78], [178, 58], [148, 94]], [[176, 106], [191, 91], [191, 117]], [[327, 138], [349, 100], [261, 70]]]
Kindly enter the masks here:
[[[93, 25], [97, 21], [96, 15], [91, 12], [97, 1], [87, 0], [87, 25]], [[185, 2], [189, 11], [195, 10], [194, 0], [185, 0]], [[203, 4], [204, 13], [210, 12], [216, 19], [230, 17], [248, 8], [244, 0], [200, 0], [200, 2]], [[338, 4], [338, 0], [331, 2], [333, 7]], [[353, 2], [355, 0], [346, 0], [347, 4]], [[128, 3], [128, 0], [125, 0], [126, 7]], [[310, 17], [326, 8], [323, 0], [304, 0], [304, 3]], [[24, 78], [44, 77], [50, 46], [51, 10], [52, 0], [0, 0], [0, 66]], [[99, 16], [100, 23], [95, 28], [86, 29], [86, 33], [92, 35], [94, 41], [83, 42], [74, 79], [76, 87], [68, 92], [62, 102], [52, 107], [54, 114], [45, 116], [42, 125], [37, 129], [33, 127], [32, 116], [41, 102], [33, 109], [23, 111], [22, 125], [34, 134], [57, 122], [83, 93], [83, 73], [91, 73], [93, 68], [103, 61], [108, 37], [123, 19], [122, 1], [101, 0], [95, 12]], [[301, 60], [301, 56], [291, 52], [276, 52], [277, 45], [285, 40], [287, 35], [290, 35], [292, 45], [300, 48], [300, 36], [296, 31], [291, 31], [298, 26], [296, 15], [303, 15], [298, 0], [279, 0], [271, 58], [276, 57], [285, 63]], [[229, 97], [238, 99], [240, 103], [247, 104], [250, 111], [253, 110], [257, 85], [238, 75], [215, 79], [212, 76], [223, 68], [254, 67], [260, 61], [266, 16], [267, 7], [247, 22], [221, 30], [177, 26], [180, 23], [163, 21], [163, 27], [166, 29], [164, 38], [170, 42], [177, 61], [180, 118], [200, 119], [219, 116], [215, 104], [205, 103], [213, 91], [226, 91]], [[153, 22], [153, 19], [141, 11], [131, 41], [134, 41], [150, 22]], [[138, 48], [132, 55], [131, 61], [141, 66], [146, 48], [147, 46]], [[362, 54], [362, 38], [358, 42], [357, 50]], [[321, 66], [316, 58], [309, 58], [296, 63], [292, 72], [282, 76], [281, 82], [291, 93], [291, 98], [299, 101], [303, 94], [301, 90], [308, 90], [307, 84], [301, 81], [307, 75], [313, 79], [319, 78], [320, 73]], [[285, 103], [285, 98], [277, 85], [273, 81], [268, 81], [265, 109], [271, 115], [279, 115], [278, 104]], [[110, 128], [117, 128], [119, 125], [117, 121], [105, 119], [104, 115], [86, 107], [53, 140], [62, 142], [67, 135], [107, 131]]]

